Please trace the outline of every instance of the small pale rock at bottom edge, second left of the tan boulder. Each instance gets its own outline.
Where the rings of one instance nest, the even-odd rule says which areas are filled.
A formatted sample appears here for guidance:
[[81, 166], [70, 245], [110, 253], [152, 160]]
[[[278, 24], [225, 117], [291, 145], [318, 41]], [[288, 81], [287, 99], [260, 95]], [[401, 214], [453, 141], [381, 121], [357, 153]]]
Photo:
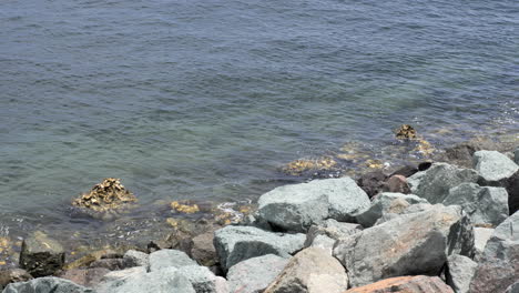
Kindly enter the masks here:
[[[217, 282], [218, 279], [223, 277], [215, 276], [205, 266], [186, 265], [180, 267], [176, 273], [185, 276], [193, 285], [193, 289], [196, 293], [220, 293], [217, 290]], [[225, 282], [225, 279], [223, 279], [223, 282]]]

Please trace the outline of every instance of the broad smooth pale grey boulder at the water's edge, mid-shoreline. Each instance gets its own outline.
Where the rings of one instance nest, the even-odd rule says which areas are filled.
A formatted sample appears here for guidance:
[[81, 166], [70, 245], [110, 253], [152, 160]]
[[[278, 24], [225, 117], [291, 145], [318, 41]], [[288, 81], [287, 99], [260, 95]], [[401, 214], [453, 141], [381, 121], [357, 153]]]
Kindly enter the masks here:
[[258, 216], [284, 231], [306, 232], [330, 218], [353, 221], [369, 198], [350, 178], [314, 180], [276, 188], [260, 198]]

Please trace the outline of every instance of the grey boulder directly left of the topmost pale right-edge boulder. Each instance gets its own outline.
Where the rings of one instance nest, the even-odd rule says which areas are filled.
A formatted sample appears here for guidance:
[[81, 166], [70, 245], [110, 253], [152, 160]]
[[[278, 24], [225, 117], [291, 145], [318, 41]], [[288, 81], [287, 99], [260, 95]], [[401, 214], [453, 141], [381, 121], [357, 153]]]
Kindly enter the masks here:
[[461, 183], [475, 183], [478, 173], [472, 169], [459, 169], [447, 163], [434, 163], [427, 171], [418, 172], [408, 179], [413, 194], [428, 202], [441, 203], [449, 190]]

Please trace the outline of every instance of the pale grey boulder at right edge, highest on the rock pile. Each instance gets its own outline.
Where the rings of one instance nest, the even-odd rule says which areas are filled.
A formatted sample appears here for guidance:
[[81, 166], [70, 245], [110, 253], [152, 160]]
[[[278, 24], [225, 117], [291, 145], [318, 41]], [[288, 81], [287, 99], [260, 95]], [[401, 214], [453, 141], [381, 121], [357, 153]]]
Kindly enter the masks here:
[[497, 151], [475, 152], [474, 165], [481, 180], [487, 183], [505, 180], [519, 170], [519, 165], [510, 158]]

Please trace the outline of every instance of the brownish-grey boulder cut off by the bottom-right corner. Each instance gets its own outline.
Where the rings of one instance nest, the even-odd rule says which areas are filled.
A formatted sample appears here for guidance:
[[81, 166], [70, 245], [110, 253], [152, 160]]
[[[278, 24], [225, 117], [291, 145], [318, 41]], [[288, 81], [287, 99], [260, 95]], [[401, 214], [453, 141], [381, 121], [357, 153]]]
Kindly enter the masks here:
[[479, 260], [470, 292], [505, 292], [519, 280], [519, 212], [493, 231]]

